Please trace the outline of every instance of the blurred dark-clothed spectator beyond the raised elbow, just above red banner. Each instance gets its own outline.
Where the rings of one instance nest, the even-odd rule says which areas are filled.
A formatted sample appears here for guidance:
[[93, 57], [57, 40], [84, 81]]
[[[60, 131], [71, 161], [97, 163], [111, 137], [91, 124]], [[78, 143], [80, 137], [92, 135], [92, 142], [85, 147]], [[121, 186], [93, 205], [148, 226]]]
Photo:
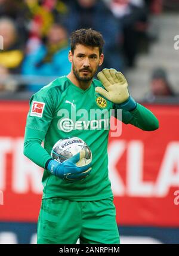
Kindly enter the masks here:
[[158, 97], [174, 96], [171, 84], [168, 82], [166, 70], [161, 67], [153, 70], [150, 82], [150, 92], [146, 95], [147, 101], [155, 101]]

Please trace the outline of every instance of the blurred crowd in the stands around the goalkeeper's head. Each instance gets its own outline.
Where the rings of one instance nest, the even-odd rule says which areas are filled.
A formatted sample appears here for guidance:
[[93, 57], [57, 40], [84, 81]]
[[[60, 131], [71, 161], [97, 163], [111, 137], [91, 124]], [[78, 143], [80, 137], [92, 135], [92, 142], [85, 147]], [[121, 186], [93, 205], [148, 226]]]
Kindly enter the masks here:
[[[149, 15], [161, 11], [162, 0], [0, 0], [0, 94], [35, 92], [48, 79], [69, 73], [70, 33], [82, 27], [104, 37], [101, 69], [135, 67], [137, 54], [150, 47]], [[33, 82], [24, 79], [17, 86], [8, 75], [32, 76]]]

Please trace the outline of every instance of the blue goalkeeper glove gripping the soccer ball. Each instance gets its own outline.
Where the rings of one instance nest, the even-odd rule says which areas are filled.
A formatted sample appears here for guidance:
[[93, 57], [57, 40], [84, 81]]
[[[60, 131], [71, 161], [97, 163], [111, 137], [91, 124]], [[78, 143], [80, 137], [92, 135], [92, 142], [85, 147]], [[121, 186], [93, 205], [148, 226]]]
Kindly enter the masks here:
[[91, 163], [85, 166], [77, 166], [79, 160], [84, 158], [85, 150], [77, 153], [72, 158], [59, 163], [53, 159], [48, 162], [47, 169], [62, 180], [77, 181], [87, 177], [91, 172]]

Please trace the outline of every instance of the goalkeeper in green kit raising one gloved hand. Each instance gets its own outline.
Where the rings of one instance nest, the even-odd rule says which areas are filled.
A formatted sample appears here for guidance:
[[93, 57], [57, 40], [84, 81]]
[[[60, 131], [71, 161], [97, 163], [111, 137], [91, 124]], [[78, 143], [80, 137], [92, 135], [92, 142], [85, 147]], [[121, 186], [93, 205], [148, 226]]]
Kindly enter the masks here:
[[[94, 79], [98, 66], [103, 63], [103, 45], [103, 36], [95, 30], [73, 32], [69, 52], [71, 72], [30, 98], [24, 155], [44, 168], [38, 243], [73, 244], [78, 238], [80, 243], [120, 242], [107, 168], [109, 129], [104, 124], [92, 126], [94, 121], [101, 124], [101, 119], [91, 116], [91, 110], [110, 113], [110, 109], [115, 109], [116, 113], [119, 109], [126, 125], [144, 131], [159, 127], [153, 113], [129, 95], [122, 73], [103, 69], [98, 73], [98, 80]], [[51, 158], [51, 149], [58, 140], [74, 136], [82, 138], [90, 147], [91, 164], [76, 165], [84, 158], [83, 150], [62, 164]]]

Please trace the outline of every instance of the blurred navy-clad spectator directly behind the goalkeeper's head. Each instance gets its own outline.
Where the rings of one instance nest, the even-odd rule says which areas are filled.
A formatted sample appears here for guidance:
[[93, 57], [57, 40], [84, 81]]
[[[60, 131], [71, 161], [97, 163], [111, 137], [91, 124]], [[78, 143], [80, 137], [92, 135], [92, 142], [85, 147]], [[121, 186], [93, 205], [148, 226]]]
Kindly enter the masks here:
[[104, 63], [103, 67], [113, 67], [117, 70], [123, 69], [122, 57], [120, 54], [121, 30], [115, 17], [101, 0], [74, 0], [69, 2], [69, 14], [64, 23], [69, 31], [81, 28], [92, 28], [103, 34]]

